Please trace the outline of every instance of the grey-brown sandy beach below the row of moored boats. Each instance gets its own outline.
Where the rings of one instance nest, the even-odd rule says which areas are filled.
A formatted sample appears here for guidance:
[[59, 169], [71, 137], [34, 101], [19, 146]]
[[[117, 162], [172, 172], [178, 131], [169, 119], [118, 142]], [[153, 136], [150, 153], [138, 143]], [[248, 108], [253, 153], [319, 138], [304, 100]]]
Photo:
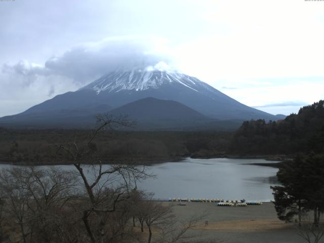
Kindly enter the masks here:
[[297, 234], [294, 224], [277, 219], [272, 203], [247, 207], [219, 207], [215, 203], [165, 204], [173, 205], [174, 213], [183, 219], [207, 212], [208, 226], [202, 222], [192, 233], [202, 233], [201, 238], [213, 239], [213, 242], [305, 242]]

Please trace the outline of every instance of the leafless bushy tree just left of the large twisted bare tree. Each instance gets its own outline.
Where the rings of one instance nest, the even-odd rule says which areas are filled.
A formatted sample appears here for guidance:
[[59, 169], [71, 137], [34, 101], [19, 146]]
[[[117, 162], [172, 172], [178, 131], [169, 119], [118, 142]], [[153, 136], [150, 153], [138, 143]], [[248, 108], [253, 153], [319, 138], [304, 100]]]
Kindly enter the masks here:
[[[21, 180], [31, 194], [28, 202], [31, 229], [29, 240], [51, 242], [54, 238], [60, 238], [60, 241], [66, 241], [65, 235], [61, 233], [64, 232], [63, 226], [67, 226], [63, 223], [67, 219], [67, 203], [77, 197], [76, 176], [54, 167], [47, 170], [30, 167], [25, 169], [23, 176]], [[71, 216], [69, 215], [68, 221], [73, 219]]]

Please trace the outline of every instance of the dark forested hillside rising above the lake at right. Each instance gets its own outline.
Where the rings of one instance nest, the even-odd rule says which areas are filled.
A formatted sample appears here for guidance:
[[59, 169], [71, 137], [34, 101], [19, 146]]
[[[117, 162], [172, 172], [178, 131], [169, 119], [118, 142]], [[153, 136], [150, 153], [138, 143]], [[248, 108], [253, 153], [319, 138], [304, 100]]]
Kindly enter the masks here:
[[324, 101], [300, 108], [284, 120], [245, 121], [235, 132], [229, 151], [234, 154], [296, 154], [324, 152]]

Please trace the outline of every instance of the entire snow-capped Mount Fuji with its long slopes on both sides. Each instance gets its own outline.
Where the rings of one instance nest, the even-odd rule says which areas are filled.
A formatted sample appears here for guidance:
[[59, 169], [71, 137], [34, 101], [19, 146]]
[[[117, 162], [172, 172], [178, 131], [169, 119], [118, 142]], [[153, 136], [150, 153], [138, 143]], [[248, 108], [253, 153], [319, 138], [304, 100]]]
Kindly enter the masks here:
[[[154, 99], [146, 99], [149, 97]], [[142, 102], [132, 104], [132, 109], [127, 109], [127, 104], [142, 99]], [[160, 101], [156, 102], [156, 99]], [[144, 114], [143, 109], [152, 103], [158, 105], [150, 107], [151, 111]], [[126, 109], [120, 109], [123, 106]], [[130, 112], [134, 107], [138, 112]], [[241, 104], [195, 77], [145, 69], [110, 72], [75, 92], [57, 95], [22, 113], [2, 117], [0, 125], [87, 127], [93, 124], [97, 113], [127, 111], [133, 114], [131, 118], [144, 122], [154, 118], [150, 117], [153, 109], [159, 109], [160, 120], [163, 117], [170, 120], [170, 114], [179, 113], [183, 114], [183, 119], [177, 115], [173, 120], [182, 120], [186, 124], [199, 120], [199, 126], [203, 120], [210, 124], [216, 120], [282, 118]]]

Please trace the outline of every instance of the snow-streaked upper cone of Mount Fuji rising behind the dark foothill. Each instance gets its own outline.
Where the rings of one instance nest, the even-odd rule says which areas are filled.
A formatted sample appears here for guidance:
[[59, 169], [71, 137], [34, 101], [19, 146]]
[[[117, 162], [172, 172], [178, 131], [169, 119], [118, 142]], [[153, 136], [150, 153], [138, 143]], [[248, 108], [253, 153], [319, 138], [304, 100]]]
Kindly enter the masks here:
[[23, 113], [102, 104], [117, 108], [147, 97], [178, 101], [218, 119], [277, 119], [272, 114], [237, 102], [195, 77], [157, 70], [111, 72], [75, 92], [58, 95]]

